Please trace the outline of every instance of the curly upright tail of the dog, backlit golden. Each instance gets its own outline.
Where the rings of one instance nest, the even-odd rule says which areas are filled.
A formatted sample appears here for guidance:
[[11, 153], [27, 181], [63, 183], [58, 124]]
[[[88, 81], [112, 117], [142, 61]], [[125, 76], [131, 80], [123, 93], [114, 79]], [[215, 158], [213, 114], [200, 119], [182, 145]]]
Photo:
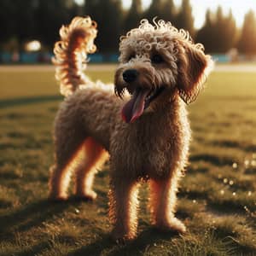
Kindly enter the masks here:
[[96, 22], [75, 17], [68, 26], [60, 29], [61, 40], [55, 43], [53, 63], [55, 78], [60, 81], [61, 94], [71, 95], [80, 85], [90, 83], [83, 71], [86, 67], [87, 54], [96, 51]]

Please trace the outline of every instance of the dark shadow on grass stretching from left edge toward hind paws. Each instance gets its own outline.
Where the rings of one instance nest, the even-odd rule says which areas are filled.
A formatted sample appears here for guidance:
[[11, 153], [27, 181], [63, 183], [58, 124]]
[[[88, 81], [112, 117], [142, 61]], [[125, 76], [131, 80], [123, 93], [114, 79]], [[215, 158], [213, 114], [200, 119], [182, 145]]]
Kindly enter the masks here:
[[5, 233], [8, 236], [14, 230], [29, 230], [52, 218], [55, 214], [63, 212], [69, 206], [70, 204], [67, 204], [67, 202], [56, 203], [47, 199], [27, 204], [15, 212], [0, 216], [0, 233]]

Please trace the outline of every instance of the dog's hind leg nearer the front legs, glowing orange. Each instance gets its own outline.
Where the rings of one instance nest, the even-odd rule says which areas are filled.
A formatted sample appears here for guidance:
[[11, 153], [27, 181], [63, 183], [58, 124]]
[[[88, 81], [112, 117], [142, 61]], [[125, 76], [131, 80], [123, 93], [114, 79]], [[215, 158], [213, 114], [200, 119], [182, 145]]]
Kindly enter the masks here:
[[83, 155], [76, 168], [75, 195], [85, 200], [96, 199], [92, 189], [94, 176], [108, 157], [107, 152], [96, 141], [88, 137], [83, 146]]

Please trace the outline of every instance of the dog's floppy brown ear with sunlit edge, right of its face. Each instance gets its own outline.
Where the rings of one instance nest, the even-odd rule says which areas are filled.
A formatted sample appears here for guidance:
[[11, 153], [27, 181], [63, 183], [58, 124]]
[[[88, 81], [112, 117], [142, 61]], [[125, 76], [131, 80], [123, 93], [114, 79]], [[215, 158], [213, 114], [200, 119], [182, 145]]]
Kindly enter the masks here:
[[213, 67], [213, 61], [195, 44], [183, 46], [178, 55], [177, 89], [179, 96], [189, 104], [198, 96]]

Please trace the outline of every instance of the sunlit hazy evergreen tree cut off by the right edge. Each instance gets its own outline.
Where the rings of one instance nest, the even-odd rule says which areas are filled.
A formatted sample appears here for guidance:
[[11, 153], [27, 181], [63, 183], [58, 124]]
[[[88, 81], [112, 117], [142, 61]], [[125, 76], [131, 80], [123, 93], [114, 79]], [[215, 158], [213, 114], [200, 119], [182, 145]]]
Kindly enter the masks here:
[[253, 10], [245, 15], [238, 49], [247, 56], [256, 54], [256, 18]]

